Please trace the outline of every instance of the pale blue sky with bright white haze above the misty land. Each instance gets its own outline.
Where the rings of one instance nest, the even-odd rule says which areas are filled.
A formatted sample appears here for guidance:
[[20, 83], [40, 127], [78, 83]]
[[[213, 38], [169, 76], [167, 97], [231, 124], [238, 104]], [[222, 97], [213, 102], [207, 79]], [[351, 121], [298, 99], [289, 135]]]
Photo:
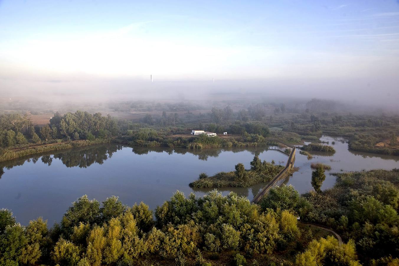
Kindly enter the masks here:
[[0, 0], [7, 95], [203, 87], [392, 101], [398, 70], [398, 0]]

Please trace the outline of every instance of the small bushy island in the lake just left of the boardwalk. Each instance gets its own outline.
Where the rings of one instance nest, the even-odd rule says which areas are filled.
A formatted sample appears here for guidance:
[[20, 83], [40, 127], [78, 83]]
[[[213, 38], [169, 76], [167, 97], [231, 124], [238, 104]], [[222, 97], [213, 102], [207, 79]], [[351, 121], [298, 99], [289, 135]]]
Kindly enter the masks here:
[[198, 180], [190, 183], [194, 188], [210, 187], [249, 187], [261, 182], [269, 182], [284, 167], [261, 161], [255, 156], [251, 161], [251, 169], [246, 170], [242, 163], [235, 165], [235, 171], [220, 172], [208, 177], [201, 173]]

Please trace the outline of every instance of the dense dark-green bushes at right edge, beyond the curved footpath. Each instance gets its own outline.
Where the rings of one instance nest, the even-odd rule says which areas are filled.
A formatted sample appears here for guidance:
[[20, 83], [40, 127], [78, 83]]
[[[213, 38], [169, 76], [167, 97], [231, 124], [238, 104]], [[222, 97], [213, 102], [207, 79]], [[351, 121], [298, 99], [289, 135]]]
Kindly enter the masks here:
[[398, 177], [398, 170], [340, 174], [333, 189], [304, 195], [313, 209], [303, 218], [352, 238], [363, 261], [398, 254]]

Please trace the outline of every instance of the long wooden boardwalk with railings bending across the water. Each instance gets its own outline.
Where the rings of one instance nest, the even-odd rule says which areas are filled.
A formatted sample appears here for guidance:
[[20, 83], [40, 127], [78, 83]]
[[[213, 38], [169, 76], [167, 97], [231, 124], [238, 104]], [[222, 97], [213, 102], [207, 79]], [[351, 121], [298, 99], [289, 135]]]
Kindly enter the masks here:
[[271, 146], [269, 149], [278, 150], [285, 154], [287, 153], [288, 149], [290, 151], [290, 155], [284, 169], [282, 169], [280, 173], [273, 177], [273, 179], [261, 190], [261, 192], [259, 192], [258, 195], [253, 198], [253, 203], [258, 203], [263, 196], [269, 193], [271, 188], [280, 187], [282, 184], [285, 184], [290, 177], [290, 172], [294, 169], [295, 147], [277, 140], [268, 140], [268, 142]]

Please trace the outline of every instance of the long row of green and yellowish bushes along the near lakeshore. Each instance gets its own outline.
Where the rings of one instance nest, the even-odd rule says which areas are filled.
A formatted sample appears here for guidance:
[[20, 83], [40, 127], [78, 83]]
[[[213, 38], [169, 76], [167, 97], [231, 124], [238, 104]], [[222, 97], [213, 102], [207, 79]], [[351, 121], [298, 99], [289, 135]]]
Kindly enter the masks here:
[[110, 197], [100, 205], [84, 195], [51, 230], [41, 218], [26, 227], [15, 224], [11, 212], [0, 210], [0, 264], [120, 265], [161, 257], [209, 265], [200, 250], [239, 250], [251, 258], [271, 254], [277, 242], [299, 236], [291, 212], [262, 212], [234, 193], [186, 198], [176, 192], [156, 209], [156, 222], [143, 203], [128, 208]]

